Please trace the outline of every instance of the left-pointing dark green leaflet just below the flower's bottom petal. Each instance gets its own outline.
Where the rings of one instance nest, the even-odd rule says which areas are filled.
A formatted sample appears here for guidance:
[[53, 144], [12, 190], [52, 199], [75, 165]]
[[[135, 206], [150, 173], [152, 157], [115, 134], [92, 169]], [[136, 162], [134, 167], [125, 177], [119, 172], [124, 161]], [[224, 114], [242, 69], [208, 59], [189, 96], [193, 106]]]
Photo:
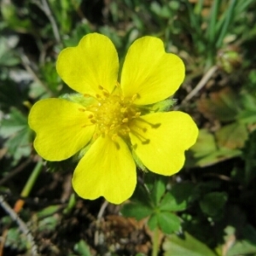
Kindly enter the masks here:
[[131, 202], [131, 203], [125, 204], [122, 207], [121, 213], [125, 217], [131, 217], [131, 218], [136, 218], [137, 220], [141, 220], [151, 215], [153, 213], [153, 209], [143, 204]]

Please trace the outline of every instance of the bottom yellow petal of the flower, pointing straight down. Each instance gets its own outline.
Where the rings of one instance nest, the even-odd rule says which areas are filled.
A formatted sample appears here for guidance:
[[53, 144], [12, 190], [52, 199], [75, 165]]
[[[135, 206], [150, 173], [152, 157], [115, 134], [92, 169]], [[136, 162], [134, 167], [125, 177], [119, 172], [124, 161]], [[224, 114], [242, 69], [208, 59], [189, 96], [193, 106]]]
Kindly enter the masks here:
[[73, 189], [84, 199], [104, 196], [119, 204], [131, 197], [137, 182], [136, 166], [125, 142], [99, 137], [73, 174]]

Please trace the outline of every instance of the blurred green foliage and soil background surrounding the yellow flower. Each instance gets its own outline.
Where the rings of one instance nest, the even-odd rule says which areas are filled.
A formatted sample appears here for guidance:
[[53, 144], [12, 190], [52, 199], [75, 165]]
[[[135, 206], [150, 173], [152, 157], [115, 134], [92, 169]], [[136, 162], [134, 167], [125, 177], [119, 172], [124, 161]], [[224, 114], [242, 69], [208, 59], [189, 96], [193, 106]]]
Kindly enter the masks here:
[[[0, 256], [256, 255], [256, 2], [253, 0], [1, 0]], [[179, 55], [174, 98], [200, 136], [173, 177], [138, 171], [131, 201], [73, 194], [72, 160], [32, 148], [34, 102], [70, 92], [61, 49], [90, 32], [120, 62], [144, 35]]]

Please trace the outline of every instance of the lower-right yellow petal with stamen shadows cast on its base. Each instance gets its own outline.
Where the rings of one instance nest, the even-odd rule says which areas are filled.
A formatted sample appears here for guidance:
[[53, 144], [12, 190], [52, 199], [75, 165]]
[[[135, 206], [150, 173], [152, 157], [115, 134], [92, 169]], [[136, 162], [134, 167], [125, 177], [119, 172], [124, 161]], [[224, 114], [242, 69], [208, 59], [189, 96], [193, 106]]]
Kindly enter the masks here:
[[131, 124], [131, 143], [148, 170], [162, 175], [178, 172], [184, 151], [195, 144], [198, 128], [187, 113], [152, 113]]

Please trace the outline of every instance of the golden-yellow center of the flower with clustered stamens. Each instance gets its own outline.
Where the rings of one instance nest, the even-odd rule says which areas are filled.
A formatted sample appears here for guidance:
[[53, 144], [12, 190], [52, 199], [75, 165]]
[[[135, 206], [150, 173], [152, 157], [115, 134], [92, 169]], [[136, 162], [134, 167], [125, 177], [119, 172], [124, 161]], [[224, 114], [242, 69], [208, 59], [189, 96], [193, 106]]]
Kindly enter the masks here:
[[126, 137], [130, 132], [131, 120], [141, 114], [133, 104], [136, 97], [128, 99], [103, 90], [103, 96], [97, 96], [98, 103], [89, 109], [93, 113], [90, 121], [97, 126], [96, 133]]

